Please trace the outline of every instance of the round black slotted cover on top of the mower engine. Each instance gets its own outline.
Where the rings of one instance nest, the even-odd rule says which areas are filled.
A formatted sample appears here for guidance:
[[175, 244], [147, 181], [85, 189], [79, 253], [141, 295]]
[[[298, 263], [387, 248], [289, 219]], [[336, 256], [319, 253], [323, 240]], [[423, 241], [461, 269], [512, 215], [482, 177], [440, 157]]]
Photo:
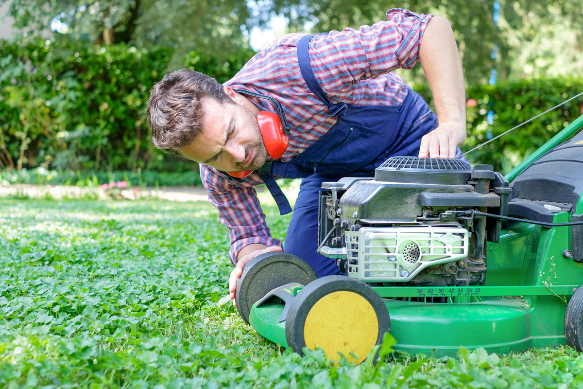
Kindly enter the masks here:
[[459, 159], [390, 157], [374, 173], [376, 181], [412, 184], [463, 185], [472, 168]]

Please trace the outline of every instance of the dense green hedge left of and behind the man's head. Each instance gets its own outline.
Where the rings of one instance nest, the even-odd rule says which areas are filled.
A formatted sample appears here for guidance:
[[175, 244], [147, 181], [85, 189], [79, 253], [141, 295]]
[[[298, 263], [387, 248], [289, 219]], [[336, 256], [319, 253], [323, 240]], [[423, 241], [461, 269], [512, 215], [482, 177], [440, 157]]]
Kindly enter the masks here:
[[[172, 54], [66, 39], [0, 41], [0, 167], [198, 171], [156, 150], [146, 127], [149, 90]], [[219, 61], [198, 52], [186, 65], [224, 80], [252, 54]]]

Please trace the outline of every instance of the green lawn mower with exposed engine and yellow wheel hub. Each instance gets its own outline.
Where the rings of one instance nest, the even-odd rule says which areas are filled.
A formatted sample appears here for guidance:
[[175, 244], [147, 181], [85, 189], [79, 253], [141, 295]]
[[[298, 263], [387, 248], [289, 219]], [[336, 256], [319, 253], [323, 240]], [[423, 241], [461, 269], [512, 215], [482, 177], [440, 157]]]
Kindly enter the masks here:
[[344, 275], [259, 255], [238, 279], [238, 313], [276, 344], [355, 363], [385, 332], [394, 349], [435, 356], [581, 351], [582, 127], [583, 116], [506, 176], [391, 157], [374, 177], [324, 183], [318, 251]]

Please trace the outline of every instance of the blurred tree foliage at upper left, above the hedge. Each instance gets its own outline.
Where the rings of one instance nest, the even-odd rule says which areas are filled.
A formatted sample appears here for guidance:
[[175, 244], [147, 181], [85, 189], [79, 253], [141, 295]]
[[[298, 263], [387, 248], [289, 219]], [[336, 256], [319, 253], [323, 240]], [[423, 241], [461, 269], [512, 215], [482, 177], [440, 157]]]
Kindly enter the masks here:
[[[241, 26], [265, 22], [270, 14], [251, 15], [244, 0], [0, 0], [8, 3], [19, 35], [89, 40], [94, 44], [126, 43], [140, 48], [172, 47], [170, 63], [182, 65], [184, 54], [204, 47], [217, 57], [229, 57], [249, 47]], [[243, 32], [246, 33], [245, 29]], [[223, 58], [222, 58], [223, 59]]]

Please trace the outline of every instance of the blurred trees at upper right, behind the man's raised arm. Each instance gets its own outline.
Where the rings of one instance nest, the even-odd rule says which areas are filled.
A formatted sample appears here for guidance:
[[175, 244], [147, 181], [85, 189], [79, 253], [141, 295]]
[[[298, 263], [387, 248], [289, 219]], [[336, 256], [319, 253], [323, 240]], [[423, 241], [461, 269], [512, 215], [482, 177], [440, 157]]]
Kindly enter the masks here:
[[[564, 76], [583, 73], [583, 0], [500, 0], [494, 23], [494, 0], [287, 0], [274, 12], [289, 18], [292, 29], [306, 22], [314, 31], [357, 28], [383, 19], [388, 8], [447, 17], [459, 45], [470, 85], [487, 83], [491, 69], [499, 79]], [[493, 58], [496, 57], [496, 58]], [[423, 82], [420, 67], [399, 72]]]

